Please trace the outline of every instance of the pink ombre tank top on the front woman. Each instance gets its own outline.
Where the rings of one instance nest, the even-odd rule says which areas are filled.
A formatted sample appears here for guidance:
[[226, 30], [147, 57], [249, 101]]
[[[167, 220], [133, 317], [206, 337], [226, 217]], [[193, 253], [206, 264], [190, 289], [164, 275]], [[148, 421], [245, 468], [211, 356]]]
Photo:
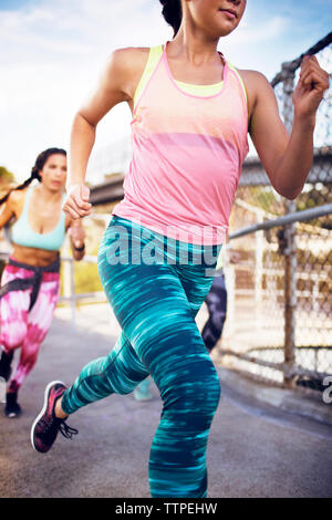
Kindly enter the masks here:
[[225, 61], [214, 95], [179, 85], [164, 45], [134, 107], [133, 157], [112, 215], [185, 242], [222, 243], [249, 149], [243, 84]]

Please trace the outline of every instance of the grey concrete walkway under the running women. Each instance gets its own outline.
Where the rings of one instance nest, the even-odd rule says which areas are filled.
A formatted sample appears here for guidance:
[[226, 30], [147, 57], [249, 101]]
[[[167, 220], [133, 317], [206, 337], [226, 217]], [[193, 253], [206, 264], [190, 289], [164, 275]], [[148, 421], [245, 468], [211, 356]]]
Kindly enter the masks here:
[[[107, 305], [82, 308], [76, 332], [69, 311], [56, 310], [22, 388], [22, 416], [8, 419], [0, 410], [1, 498], [149, 497], [148, 455], [162, 410], [155, 386], [151, 402], [115, 395], [79, 410], [69, 424], [80, 434], [72, 440], [59, 436], [46, 455], [30, 445], [45, 385], [55, 378], [71, 384], [85, 363], [110, 351], [118, 333]], [[291, 413], [278, 394], [283, 391], [218, 371], [222, 398], [208, 447], [209, 497], [332, 497], [331, 426]]]

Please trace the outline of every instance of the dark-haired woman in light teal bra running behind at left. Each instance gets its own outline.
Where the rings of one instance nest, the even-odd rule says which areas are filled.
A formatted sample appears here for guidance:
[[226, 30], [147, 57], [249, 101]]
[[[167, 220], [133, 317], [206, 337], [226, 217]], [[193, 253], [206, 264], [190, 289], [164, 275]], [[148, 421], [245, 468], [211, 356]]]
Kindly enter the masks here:
[[[40, 184], [30, 186], [34, 179]], [[21, 412], [19, 389], [37, 362], [52, 322], [60, 291], [59, 250], [66, 230], [74, 259], [84, 256], [81, 222], [62, 211], [65, 180], [65, 150], [49, 148], [37, 157], [30, 178], [0, 200], [0, 228], [14, 219], [13, 250], [0, 289], [0, 377], [8, 382], [7, 417], [17, 417]], [[11, 376], [18, 349], [20, 360]]]

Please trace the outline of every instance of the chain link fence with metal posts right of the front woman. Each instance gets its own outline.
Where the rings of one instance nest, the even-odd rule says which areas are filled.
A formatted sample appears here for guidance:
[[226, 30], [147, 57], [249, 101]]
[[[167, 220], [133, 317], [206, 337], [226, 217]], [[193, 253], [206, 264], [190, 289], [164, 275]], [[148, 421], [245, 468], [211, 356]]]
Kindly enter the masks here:
[[[330, 76], [331, 42], [332, 33], [305, 53], [315, 54]], [[271, 82], [289, 132], [303, 55], [283, 63]], [[230, 218], [229, 249], [239, 260], [225, 264], [228, 314], [220, 362], [283, 386], [322, 389], [332, 374], [331, 113], [330, 87], [319, 108], [314, 160], [302, 194], [291, 201], [279, 196], [259, 159], [249, 157]]]

